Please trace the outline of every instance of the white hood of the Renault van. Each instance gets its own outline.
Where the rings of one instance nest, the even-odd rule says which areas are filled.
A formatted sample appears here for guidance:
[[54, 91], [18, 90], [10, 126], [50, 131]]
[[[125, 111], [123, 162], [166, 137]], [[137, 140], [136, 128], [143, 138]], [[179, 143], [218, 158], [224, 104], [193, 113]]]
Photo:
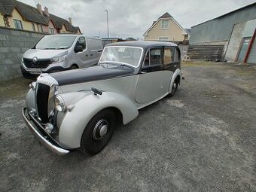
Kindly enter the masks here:
[[37, 49], [29, 49], [27, 50], [23, 57], [26, 59], [33, 59], [35, 56], [38, 59], [50, 59], [54, 56], [60, 56], [67, 53], [67, 50], [37, 50]]

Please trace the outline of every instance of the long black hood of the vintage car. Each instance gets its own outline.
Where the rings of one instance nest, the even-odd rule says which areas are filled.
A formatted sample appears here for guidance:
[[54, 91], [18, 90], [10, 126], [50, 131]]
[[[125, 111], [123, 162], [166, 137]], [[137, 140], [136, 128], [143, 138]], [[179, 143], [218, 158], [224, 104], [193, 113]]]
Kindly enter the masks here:
[[102, 64], [85, 69], [75, 69], [50, 74], [58, 81], [59, 86], [66, 84], [79, 84], [88, 81], [99, 81], [106, 78], [117, 78], [133, 75], [134, 69], [129, 66]]

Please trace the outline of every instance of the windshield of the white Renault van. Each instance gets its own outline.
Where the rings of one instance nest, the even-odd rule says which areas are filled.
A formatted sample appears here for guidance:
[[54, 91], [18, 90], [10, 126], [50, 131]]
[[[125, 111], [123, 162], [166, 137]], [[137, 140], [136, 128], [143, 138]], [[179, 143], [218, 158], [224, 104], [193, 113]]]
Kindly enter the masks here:
[[76, 36], [69, 35], [46, 35], [35, 45], [39, 50], [69, 49], [75, 41]]

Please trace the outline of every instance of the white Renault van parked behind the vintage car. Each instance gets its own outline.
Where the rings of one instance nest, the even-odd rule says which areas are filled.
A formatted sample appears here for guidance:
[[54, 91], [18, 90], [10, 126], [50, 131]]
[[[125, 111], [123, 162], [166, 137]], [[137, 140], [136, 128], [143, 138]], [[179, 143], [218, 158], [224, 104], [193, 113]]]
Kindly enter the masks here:
[[101, 38], [88, 38], [84, 35], [45, 35], [24, 53], [20, 69], [24, 78], [36, 78], [41, 73], [95, 65], [101, 53]]

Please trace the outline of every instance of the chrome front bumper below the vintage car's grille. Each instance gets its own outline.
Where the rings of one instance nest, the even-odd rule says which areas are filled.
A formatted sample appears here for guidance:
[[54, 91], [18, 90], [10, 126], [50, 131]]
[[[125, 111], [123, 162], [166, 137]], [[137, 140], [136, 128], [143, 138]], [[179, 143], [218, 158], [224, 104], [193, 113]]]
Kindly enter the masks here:
[[[29, 130], [31, 130], [35, 138], [38, 139], [44, 146], [49, 148], [50, 151], [53, 151], [59, 155], [68, 154], [70, 152], [68, 149], [62, 148], [53, 141], [50, 141], [51, 139], [47, 138], [47, 136], [44, 136], [47, 135], [47, 133], [42, 133], [44, 128], [39, 123], [36, 123], [36, 120], [34, 117], [32, 117], [32, 115], [29, 115], [27, 108], [23, 108], [23, 120], [25, 121], [26, 125], [29, 126]], [[39, 127], [35, 126], [36, 124]]]

